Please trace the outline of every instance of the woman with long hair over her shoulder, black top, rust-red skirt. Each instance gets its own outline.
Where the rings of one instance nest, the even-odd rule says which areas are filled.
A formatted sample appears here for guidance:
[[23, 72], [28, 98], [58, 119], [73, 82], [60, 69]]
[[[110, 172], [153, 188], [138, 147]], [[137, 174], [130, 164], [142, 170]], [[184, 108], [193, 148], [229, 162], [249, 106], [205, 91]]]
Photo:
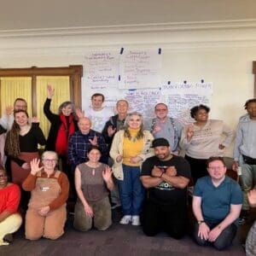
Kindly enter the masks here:
[[11, 159], [14, 183], [21, 186], [29, 174], [30, 161], [39, 157], [38, 144], [45, 144], [43, 131], [38, 125], [28, 123], [28, 113], [25, 110], [15, 111], [15, 121], [5, 142], [5, 152]]

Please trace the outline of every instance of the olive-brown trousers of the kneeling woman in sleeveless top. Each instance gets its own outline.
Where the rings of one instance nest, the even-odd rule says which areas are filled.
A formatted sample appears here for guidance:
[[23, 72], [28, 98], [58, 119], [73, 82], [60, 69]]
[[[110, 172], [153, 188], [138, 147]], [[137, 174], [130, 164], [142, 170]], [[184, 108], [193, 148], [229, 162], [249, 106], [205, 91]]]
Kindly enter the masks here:
[[84, 206], [77, 202], [74, 211], [73, 226], [79, 231], [87, 231], [92, 227], [92, 223], [97, 230], [107, 230], [112, 224], [111, 207], [108, 197], [101, 201], [90, 202], [90, 207], [94, 213], [94, 217], [90, 218], [84, 212]]

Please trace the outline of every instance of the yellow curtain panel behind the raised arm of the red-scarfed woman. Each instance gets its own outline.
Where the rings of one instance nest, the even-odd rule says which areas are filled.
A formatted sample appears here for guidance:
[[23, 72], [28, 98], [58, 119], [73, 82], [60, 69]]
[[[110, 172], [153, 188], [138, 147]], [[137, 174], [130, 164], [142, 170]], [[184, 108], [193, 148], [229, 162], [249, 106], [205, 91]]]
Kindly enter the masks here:
[[49, 121], [44, 115], [44, 102], [47, 98], [47, 84], [50, 84], [55, 90], [55, 95], [52, 97], [50, 110], [53, 113], [58, 113], [58, 108], [62, 102], [70, 101], [70, 86], [69, 77], [37, 77], [37, 113], [40, 121], [40, 127], [44, 131], [44, 136], [47, 138], [49, 133]]

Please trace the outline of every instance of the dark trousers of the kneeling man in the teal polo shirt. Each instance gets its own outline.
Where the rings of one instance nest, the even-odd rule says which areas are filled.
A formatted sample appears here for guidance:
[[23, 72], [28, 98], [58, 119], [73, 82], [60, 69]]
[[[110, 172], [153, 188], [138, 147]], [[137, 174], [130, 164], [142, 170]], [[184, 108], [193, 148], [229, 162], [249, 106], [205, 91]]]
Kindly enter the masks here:
[[[206, 224], [208, 225], [210, 230], [212, 230], [214, 227], [216, 227], [219, 224], [219, 222], [210, 223], [206, 221]], [[201, 237], [198, 236], [198, 229], [199, 229], [199, 224], [195, 224], [195, 228], [193, 231], [193, 238], [196, 243], [198, 243], [201, 246], [212, 245], [213, 247], [221, 251], [221, 250], [224, 250], [226, 247], [230, 246], [230, 244], [232, 243], [232, 241], [236, 236], [237, 227], [235, 224], [230, 224], [220, 233], [217, 239], [213, 242], [201, 239]]]

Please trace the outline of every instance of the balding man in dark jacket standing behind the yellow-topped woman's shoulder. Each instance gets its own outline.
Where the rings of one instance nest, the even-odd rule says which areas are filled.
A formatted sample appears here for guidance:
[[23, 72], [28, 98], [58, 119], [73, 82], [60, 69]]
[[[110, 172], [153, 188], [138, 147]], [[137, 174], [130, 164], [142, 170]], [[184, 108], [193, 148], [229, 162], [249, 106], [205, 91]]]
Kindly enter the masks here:
[[[125, 100], [119, 100], [116, 103], [116, 110], [117, 114], [113, 115], [108, 122], [106, 123], [102, 135], [105, 138], [105, 142], [108, 144], [108, 154], [109, 150], [111, 148], [112, 142], [113, 142], [113, 136], [114, 134], [124, 128], [125, 124], [125, 118], [127, 116], [127, 111], [129, 108], [129, 103]], [[109, 156], [109, 155], [108, 155]], [[112, 158], [108, 157], [108, 165], [113, 166], [113, 160]], [[119, 200], [119, 192], [117, 185], [114, 186], [114, 188], [110, 192], [111, 194], [111, 205], [112, 209], [120, 206], [120, 200]]]

